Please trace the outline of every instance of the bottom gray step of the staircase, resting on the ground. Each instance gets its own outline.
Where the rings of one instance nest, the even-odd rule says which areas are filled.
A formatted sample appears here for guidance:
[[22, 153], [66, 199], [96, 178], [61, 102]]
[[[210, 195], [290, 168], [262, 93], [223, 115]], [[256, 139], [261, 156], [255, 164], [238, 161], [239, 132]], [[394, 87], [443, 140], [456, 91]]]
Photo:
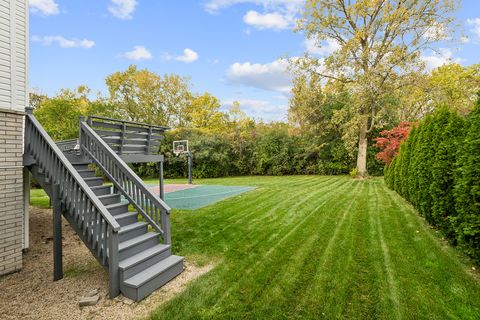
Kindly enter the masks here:
[[183, 257], [170, 256], [121, 283], [124, 296], [139, 301], [183, 271]]

